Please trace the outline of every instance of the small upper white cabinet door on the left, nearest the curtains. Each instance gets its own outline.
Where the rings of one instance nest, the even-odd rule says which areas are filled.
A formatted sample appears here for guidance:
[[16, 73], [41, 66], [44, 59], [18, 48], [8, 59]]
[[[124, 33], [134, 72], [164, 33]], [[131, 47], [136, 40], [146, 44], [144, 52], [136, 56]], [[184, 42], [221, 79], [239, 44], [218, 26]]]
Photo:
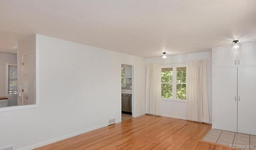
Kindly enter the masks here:
[[214, 67], [233, 67], [237, 64], [236, 49], [231, 47], [213, 49]]

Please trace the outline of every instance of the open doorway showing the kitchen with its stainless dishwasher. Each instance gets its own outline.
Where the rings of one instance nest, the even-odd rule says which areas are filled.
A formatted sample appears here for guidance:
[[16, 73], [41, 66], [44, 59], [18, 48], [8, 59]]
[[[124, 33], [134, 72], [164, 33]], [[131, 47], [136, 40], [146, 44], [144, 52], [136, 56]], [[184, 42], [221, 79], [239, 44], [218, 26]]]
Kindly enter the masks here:
[[132, 99], [132, 81], [133, 81], [133, 66], [121, 65], [121, 117], [122, 120], [132, 118], [133, 99]]

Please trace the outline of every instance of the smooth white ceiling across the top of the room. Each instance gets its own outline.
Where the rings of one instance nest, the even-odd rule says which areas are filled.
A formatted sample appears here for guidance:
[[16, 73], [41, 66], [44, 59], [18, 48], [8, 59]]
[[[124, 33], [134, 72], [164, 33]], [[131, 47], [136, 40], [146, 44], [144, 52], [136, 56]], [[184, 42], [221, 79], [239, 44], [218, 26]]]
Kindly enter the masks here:
[[42, 34], [139, 57], [256, 41], [256, 0], [0, 0], [0, 51]]

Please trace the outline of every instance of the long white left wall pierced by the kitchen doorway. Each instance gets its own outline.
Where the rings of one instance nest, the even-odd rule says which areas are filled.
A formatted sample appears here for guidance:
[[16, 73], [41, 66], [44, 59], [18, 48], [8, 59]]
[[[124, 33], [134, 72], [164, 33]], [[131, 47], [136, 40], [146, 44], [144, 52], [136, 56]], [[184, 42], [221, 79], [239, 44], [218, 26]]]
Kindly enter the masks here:
[[0, 112], [0, 147], [32, 149], [121, 121], [121, 64], [134, 65], [134, 116], [145, 113], [144, 59], [39, 36], [40, 107]]

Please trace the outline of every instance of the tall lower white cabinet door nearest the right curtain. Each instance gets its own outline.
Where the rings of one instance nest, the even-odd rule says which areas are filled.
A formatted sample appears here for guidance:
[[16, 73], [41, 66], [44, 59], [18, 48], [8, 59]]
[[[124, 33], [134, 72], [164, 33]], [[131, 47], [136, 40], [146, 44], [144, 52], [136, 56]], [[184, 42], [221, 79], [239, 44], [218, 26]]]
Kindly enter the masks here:
[[237, 67], [214, 68], [213, 92], [212, 127], [236, 132]]

